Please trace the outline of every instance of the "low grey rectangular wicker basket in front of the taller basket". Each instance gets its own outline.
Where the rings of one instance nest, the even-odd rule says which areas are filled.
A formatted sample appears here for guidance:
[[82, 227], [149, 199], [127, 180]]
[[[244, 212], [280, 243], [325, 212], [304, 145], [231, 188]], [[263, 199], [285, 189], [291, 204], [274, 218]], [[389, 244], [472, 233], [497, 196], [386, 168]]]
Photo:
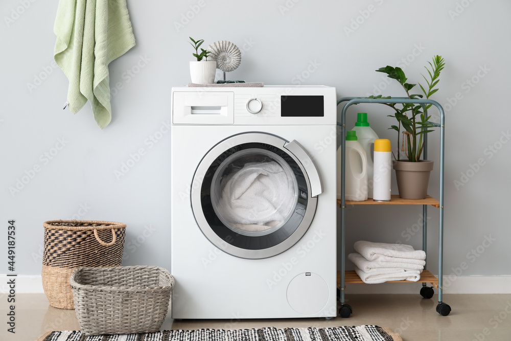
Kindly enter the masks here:
[[157, 266], [81, 267], [69, 282], [84, 335], [159, 331], [174, 286]]

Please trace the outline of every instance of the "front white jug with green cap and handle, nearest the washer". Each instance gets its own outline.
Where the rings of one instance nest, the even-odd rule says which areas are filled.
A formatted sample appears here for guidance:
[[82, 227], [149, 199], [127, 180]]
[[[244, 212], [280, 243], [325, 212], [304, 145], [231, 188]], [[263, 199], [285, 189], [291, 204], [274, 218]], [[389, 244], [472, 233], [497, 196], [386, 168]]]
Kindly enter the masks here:
[[[345, 173], [345, 199], [367, 200], [367, 156], [353, 130], [346, 132]], [[339, 147], [337, 149], [337, 199], [341, 199], [341, 176], [341, 147]]]

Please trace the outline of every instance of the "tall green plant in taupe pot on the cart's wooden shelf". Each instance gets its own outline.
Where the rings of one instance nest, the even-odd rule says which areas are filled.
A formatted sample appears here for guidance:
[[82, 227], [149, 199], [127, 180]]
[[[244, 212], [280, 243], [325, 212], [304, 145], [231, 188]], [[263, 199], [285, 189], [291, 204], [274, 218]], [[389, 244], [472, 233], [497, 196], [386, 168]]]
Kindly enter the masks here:
[[[428, 62], [431, 70], [425, 66], [428, 71], [429, 80], [424, 75], [423, 78], [427, 83], [427, 87], [421, 87], [423, 94], [410, 94], [410, 90], [416, 84], [407, 83], [405, 73], [400, 67], [386, 66], [376, 70], [387, 74], [387, 77], [396, 79], [401, 86], [403, 86], [406, 95], [409, 99], [429, 99], [431, 95], [438, 91], [435, 86], [438, 84], [438, 77], [440, 71], [444, 69], [444, 58], [442, 56], [434, 56], [433, 63]], [[381, 96], [370, 96], [369, 98], [390, 98]], [[433, 169], [433, 161], [421, 160], [421, 155], [424, 149], [423, 135], [433, 130], [429, 128], [434, 125], [428, 123], [431, 116], [428, 116], [428, 109], [432, 104], [417, 105], [412, 103], [398, 103], [388, 104], [394, 111], [394, 115], [389, 117], [396, 118], [398, 125], [392, 125], [389, 129], [394, 129], [398, 132], [398, 148], [401, 146], [401, 151], [405, 152], [407, 160], [400, 160], [400, 152], [398, 157], [394, 155], [392, 168], [396, 170], [396, 179], [398, 182], [399, 196], [404, 199], [424, 199], [427, 196], [429, 175]], [[403, 131], [401, 131], [403, 128]], [[400, 144], [400, 135], [403, 134], [402, 142]]]

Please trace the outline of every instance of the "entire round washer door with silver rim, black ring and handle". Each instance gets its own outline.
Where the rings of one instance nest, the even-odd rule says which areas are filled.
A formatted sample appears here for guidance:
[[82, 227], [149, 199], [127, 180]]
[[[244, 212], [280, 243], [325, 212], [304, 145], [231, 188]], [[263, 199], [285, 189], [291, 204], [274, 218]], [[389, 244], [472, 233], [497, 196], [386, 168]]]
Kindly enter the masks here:
[[322, 191], [317, 168], [298, 142], [249, 132], [208, 151], [194, 174], [191, 199], [199, 228], [215, 246], [261, 259], [304, 236]]

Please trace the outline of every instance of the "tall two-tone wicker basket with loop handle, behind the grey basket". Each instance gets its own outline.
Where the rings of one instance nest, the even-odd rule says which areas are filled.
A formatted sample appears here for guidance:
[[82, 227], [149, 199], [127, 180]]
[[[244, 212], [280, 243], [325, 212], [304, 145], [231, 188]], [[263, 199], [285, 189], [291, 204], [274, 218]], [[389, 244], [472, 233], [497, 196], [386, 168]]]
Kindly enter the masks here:
[[113, 221], [45, 221], [42, 287], [55, 308], [74, 309], [69, 276], [77, 267], [121, 266], [126, 225]]

